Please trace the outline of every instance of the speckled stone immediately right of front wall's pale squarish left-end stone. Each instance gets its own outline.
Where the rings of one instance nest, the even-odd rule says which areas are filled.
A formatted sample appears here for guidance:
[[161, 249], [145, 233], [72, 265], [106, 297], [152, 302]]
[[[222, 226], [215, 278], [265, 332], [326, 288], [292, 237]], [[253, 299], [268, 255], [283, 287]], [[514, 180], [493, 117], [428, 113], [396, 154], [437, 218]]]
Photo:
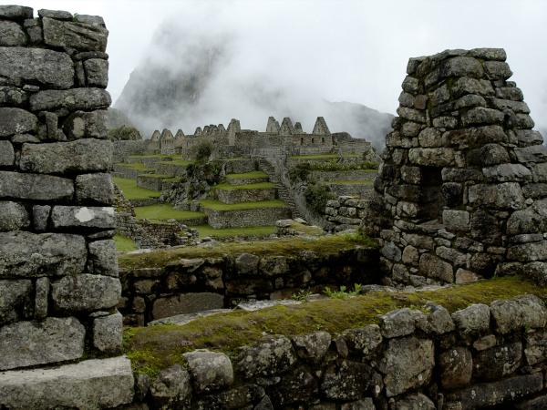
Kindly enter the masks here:
[[293, 345], [285, 336], [267, 336], [254, 346], [243, 346], [237, 359], [237, 370], [246, 379], [282, 374], [294, 364]]

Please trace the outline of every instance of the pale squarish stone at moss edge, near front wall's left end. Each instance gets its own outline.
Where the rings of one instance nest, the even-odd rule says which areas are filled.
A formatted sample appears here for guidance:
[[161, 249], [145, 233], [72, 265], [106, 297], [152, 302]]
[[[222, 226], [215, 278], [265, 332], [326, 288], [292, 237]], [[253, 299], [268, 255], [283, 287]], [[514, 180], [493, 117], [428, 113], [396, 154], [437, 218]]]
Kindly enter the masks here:
[[233, 383], [232, 362], [226, 354], [195, 350], [182, 354], [198, 393], [225, 388]]

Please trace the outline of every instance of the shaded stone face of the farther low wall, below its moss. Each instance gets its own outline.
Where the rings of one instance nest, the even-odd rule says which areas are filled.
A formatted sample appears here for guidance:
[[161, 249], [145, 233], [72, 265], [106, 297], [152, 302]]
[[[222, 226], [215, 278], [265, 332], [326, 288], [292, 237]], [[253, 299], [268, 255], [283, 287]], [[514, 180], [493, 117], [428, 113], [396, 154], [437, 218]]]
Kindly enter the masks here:
[[142, 325], [246, 300], [287, 298], [304, 288], [377, 283], [377, 257], [368, 248], [292, 257], [242, 253], [122, 270], [119, 309], [127, 323]]

